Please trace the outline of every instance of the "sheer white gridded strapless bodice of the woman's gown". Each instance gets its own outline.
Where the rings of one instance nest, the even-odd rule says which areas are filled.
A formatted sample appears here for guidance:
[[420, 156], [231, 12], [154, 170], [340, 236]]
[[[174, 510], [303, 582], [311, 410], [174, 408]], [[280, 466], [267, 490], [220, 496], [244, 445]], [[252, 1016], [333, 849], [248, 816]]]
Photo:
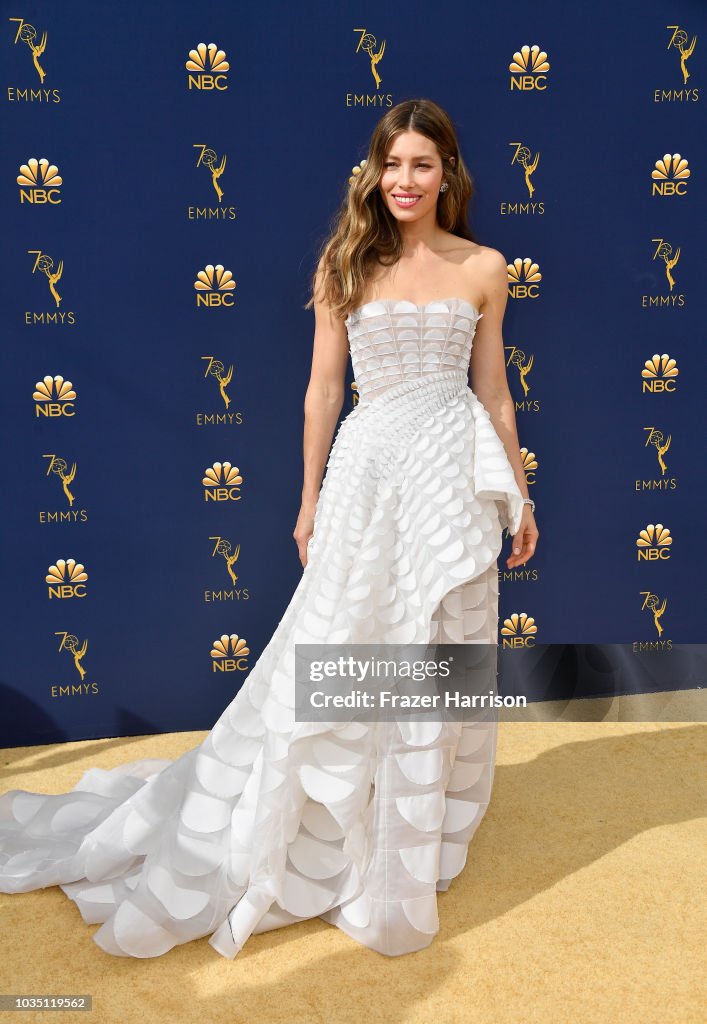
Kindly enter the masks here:
[[345, 319], [359, 397], [377, 397], [403, 381], [468, 373], [476, 324], [484, 314], [465, 299], [417, 305], [374, 299]]

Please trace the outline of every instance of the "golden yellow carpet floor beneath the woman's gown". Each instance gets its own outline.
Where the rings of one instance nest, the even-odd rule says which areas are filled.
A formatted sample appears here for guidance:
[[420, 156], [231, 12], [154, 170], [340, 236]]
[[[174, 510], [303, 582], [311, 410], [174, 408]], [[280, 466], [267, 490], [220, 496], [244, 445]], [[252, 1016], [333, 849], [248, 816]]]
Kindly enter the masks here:
[[[0, 894], [0, 992], [88, 993], [98, 1024], [703, 1024], [705, 736], [690, 722], [501, 722], [490, 808], [431, 946], [387, 957], [318, 920], [139, 961], [56, 887]], [[0, 751], [0, 791], [176, 758], [205, 732]], [[702, 966], [702, 967], [701, 967]]]

